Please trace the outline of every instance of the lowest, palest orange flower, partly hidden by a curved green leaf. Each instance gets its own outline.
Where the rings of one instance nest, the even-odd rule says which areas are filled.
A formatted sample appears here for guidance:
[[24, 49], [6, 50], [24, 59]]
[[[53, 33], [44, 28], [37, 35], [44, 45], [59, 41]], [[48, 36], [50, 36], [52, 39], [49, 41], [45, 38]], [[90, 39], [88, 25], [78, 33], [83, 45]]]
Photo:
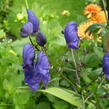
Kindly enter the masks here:
[[92, 38], [93, 38], [92, 34], [89, 35], [90, 32], [88, 31], [87, 33], [85, 33], [85, 31], [86, 31], [86, 29], [87, 29], [90, 25], [92, 25], [92, 24], [94, 24], [94, 23], [95, 23], [95, 22], [90, 21], [90, 22], [85, 22], [85, 23], [83, 23], [83, 24], [80, 24], [80, 25], [78, 26], [78, 36], [79, 36], [80, 38], [92, 39]]

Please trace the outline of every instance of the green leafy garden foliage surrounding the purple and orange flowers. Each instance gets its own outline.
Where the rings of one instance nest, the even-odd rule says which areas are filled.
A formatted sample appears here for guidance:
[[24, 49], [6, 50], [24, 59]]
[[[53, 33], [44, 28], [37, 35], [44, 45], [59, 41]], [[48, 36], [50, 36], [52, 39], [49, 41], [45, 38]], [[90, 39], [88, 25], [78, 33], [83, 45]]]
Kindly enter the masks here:
[[[108, 109], [109, 82], [102, 71], [102, 39], [108, 31], [106, 24], [96, 22], [90, 25], [85, 32], [90, 31], [94, 37], [81, 39], [80, 48], [73, 51], [74, 54], [67, 48], [61, 33], [71, 20], [78, 24], [88, 20], [83, 15], [86, 4], [101, 2], [28, 0], [30, 9], [40, 20], [41, 31], [47, 37], [45, 48], [51, 64], [51, 80], [47, 88], [44, 90], [40, 87], [32, 92], [24, 82], [22, 69], [22, 48], [30, 41], [19, 35], [22, 24], [27, 21], [25, 1], [6, 1], [0, 2], [5, 7], [0, 8], [0, 109]], [[70, 14], [62, 15], [63, 11]], [[100, 29], [102, 31], [99, 32]], [[102, 37], [101, 41], [98, 41], [98, 37]], [[32, 40], [36, 43], [35, 37]]]

